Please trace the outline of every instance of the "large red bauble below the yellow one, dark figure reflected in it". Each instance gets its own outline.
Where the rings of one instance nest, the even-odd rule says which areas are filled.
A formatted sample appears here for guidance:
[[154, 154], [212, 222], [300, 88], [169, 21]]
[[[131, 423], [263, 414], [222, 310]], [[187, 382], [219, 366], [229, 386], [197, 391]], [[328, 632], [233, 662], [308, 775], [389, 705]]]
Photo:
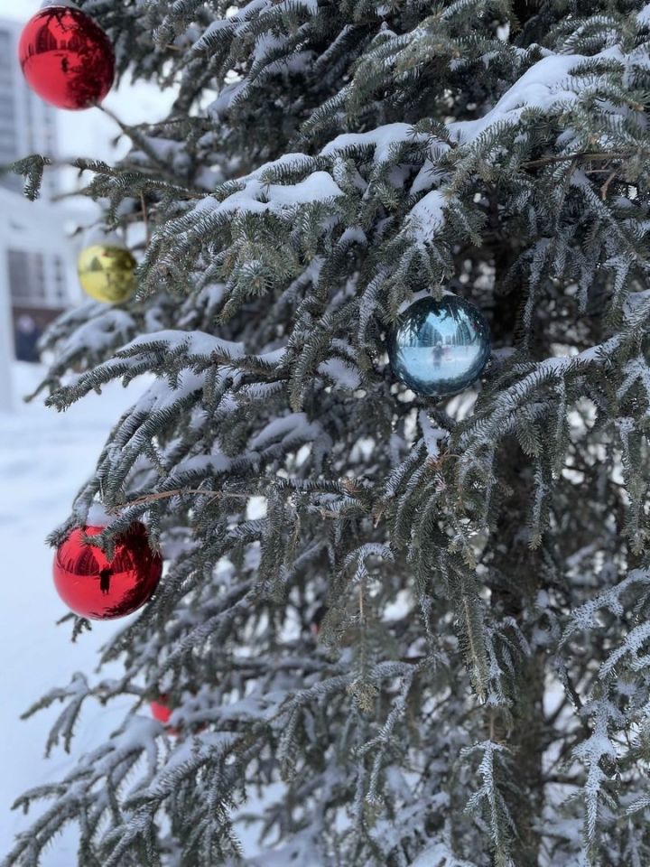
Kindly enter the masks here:
[[154, 554], [144, 525], [116, 540], [112, 560], [85, 536], [99, 536], [105, 527], [77, 527], [54, 557], [54, 584], [60, 598], [81, 617], [112, 620], [125, 617], [149, 601], [163, 573], [163, 560]]

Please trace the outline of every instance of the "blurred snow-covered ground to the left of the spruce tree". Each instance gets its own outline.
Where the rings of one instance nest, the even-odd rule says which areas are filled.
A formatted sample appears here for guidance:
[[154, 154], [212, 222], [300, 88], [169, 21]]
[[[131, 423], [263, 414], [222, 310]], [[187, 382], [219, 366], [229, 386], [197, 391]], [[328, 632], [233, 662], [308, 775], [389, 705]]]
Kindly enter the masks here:
[[[16, 831], [30, 818], [10, 811], [26, 788], [60, 778], [74, 757], [62, 750], [43, 759], [57, 707], [22, 722], [20, 714], [53, 686], [65, 685], [79, 670], [91, 671], [97, 650], [116, 629], [98, 623], [76, 644], [70, 624], [55, 625], [66, 609], [51, 581], [52, 552], [43, 539], [70, 512], [77, 489], [92, 471], [111, 425], [134, 402], [142, 386], [107, 387], [64, 414], [42, 401], [24, 405], [42, 368], [16, 364], [12, 414], [0, 413], [0, 860]], [[122, 621], [123, 623], [124, 621]], [[102, 741], [116, 728], [127, 703], [88, 706], [74, 752]], [[77, 863], [75, 834], [63, 834], [44, 859], [46, 867]]]

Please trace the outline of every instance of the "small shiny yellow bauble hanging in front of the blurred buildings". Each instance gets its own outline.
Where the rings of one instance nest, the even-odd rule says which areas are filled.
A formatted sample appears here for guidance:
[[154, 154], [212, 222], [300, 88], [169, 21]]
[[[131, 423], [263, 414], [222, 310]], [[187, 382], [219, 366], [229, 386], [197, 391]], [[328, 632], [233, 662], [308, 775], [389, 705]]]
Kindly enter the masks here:
[[135, 293], [136, 264], [124, 247], [94, 244], [79, 254], [79, 283], [96, 301], [119, 304]]

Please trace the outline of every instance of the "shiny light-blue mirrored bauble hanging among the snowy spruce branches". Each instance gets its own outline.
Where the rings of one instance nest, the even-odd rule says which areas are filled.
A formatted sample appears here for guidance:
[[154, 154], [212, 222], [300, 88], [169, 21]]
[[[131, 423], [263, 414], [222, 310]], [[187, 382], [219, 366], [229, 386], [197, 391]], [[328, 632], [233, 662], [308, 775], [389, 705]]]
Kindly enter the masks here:
[[452, 294], [411, 304], [388, 340], [395, 376], [427, 397], [463, 391], [481, 375], [489, 356], [489, 328], [482, 313]]

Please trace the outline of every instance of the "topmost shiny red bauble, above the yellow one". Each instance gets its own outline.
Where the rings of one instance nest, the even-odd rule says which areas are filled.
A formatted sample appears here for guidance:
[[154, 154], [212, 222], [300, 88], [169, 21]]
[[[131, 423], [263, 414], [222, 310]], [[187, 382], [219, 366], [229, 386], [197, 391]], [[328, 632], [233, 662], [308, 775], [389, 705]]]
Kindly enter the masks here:
[[24, 26], [18, 45], [32, 90], [58, 108], [97, 105], [115, 79], [115, 53], [92, 18], [70, 6], [47, 6]]

